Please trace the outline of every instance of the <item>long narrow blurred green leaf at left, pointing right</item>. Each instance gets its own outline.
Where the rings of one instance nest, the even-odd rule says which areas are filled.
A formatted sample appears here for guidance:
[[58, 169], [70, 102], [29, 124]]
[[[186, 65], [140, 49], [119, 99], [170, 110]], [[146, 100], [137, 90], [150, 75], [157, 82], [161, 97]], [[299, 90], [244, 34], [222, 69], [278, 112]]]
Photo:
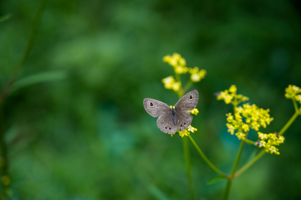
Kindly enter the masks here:
[[42, 82], [49, 82], [49, 81], [57, 81], [66, 78], [65, 71], [52, 71], [52, 72], [42, 72], [39, 74], [30, 75], [26, 78], [22, 78], [16, 81], [13, 85], [11, 93], [20, 89], [24, 88], [29, 85], [42, 83]]

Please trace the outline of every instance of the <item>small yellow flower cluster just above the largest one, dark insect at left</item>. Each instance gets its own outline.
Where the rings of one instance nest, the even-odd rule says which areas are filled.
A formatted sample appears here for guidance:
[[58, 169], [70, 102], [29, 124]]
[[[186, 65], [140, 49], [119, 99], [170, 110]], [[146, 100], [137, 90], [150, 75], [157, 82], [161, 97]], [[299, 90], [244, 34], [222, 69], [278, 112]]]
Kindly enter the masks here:
[[[236, 94], [237, 88], [235, 85], [231, 85], [229, 90], [221, 91], [217, 93], [217, 100], [224, 100], [226, 104], [232, 103], [233, 100], [239, 104], [240, 102], [245, 102], [249, 100], [249, 97], [246, 97], [242, 94]], [[236, 104], [236, 105], [237, 105]]]

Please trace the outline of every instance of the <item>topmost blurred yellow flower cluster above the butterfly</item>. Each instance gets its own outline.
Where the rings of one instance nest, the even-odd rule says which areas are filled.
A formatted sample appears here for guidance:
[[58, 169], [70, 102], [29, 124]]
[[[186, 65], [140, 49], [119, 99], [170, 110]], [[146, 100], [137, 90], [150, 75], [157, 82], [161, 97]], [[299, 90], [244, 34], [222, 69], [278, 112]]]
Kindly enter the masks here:
[[186, 67], [186, 60], [180, 54], [173, 53], [172, 56], [164, 56], [163, 61], [171, 65], [176, 74], [185, 74], [188, 72], [188, 67]]

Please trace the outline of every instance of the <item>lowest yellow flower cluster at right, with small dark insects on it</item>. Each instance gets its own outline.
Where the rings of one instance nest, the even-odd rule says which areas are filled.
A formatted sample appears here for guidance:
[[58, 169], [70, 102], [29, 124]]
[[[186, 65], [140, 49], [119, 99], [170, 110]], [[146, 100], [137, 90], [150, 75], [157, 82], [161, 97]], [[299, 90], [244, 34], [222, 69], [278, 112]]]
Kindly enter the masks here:
[[258, 146], [259, 148], [265, 148], [265, 152], [275, 153], [276, 155], [279, 155], [278, 152], [279, 149], [277, 149], [275, 146], [278, 146], [281, 143], [284, 143], [284, 137], [278, 136], [278, 133], [270, 133], [270, 134], [264, 134], [261, 132], [258, 132], [258, 140], [255, 143], [255, 146]]

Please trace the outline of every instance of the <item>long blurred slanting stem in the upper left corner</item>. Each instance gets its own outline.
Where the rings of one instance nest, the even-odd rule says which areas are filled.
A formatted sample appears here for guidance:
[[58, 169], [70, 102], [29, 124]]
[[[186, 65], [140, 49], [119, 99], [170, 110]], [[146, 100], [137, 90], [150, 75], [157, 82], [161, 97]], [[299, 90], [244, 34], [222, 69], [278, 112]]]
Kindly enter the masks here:
[[14, 82], [17, 79], [17, 76], [20, 72], [20, 69], [22, 68], [22, 66], [24, 65], [24, 63], [26, 62], [28, 56], [29, 56], [29, 52], [33, 47], [33, 42], [36, 38], [36, 32], [39, 26], [39, 22], [42, 16], [42, 13], [44, 11], [44, 8], [46, 6], [47, 0], [41, 0], [40, 4], [39, 4], [39, 8], [36, 12], [36, 16], [33, 19], [33, 24], [30, 28], [30, 32], [29, 32], [29, 36], [28, 36], [28, 40], [27, 40], [27, 45], [26, 48], [24, 50], [23, 56], [20, 60], [20, 62], [18, 63], [18, 65], [16, 66], [13, 75], [10, 78], [10, 81], [8, 82], [8, 84], [6, 85], [6, 87], [4, 88], [4, 90], [1, 93], [1, 99], [4, 100], [6, 98], [6, 96], [9, 94], [9, 91], [11, 90], [12, 85], [14, 84]]

